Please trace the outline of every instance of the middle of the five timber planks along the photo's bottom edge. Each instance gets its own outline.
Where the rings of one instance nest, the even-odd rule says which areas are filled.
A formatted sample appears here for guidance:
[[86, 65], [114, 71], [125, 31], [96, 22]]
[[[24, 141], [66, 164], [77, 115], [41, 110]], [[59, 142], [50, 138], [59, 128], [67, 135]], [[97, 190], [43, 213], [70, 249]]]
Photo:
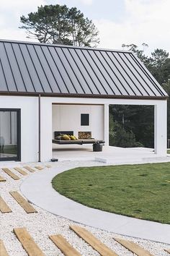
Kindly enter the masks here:
[[81, 256], [79, 252], [74, 249], [71, 244], [69, 244], [66, 239], [58, 235], [49, 236], [49, 238], [53, 241], [53, 243], [63, 252], [63, 255], [66, 256]]

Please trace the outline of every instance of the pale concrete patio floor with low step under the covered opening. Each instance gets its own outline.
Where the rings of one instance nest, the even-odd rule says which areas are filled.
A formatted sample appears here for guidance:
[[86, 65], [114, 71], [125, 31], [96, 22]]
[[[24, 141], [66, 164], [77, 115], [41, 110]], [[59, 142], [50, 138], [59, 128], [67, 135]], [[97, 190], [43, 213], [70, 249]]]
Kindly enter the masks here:
[[169, 162], [170, 155], [161, 157], [151, 148], [117, 148], [103, 146], [102, 152], [93, 152], [92, 145], [53, 145], [53, 158], [58, 161], [99, 161], [102, 163], [157, 163]]

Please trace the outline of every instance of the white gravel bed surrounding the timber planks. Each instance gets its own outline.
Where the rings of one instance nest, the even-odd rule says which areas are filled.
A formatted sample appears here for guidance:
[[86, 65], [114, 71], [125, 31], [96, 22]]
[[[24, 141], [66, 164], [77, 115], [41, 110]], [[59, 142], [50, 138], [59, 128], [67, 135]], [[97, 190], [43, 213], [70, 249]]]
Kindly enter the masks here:
[[[49, 163], [47, 163], [49, 164]], [[63, 166], [63, 164], [68, 164], [66, 162], [58, 162], [58, 163], [50, 163], [50, 165], [54, 166]], [[75, 162], [75, 166], [78, 166], [80, 163]], [[99, 165], [99, 163], [86, 163], [81, 162], [81, 166], [86, 165]], [[101, 163], [100, 163], [101, 164]], [[28, 164], [27, 164], [28, 165]], [[32, 164], [31, 164], [32, 165]], [[36, 165], [40, 165], [40, 163], [36, 163]], [[73, 163], [71, 163], [71, 166]], [[104, 165], [104, 164], [103, 164]], [[35, 165], [34, 165], [35, 166]], [[44, 165], [45, 166], [45, 165]], [[18, 181], [14, 181], [14, 179], [10, 178], [7, 174], [4, 173], [0, 169], [0, 175], [6, 178], [6, 182], [1, 182], [1, 197], [6, 201], [9, 207], [12, 209], [12, 213], [0, 213], [0, 239], [3, 240], [4, 245], [9, 252], [9, 256], [24, 256], [27, 253], [22, 248], [19, 240], [13, 233], [14, 228], [25, 227], [27, 231], [30, 232], [33, 239], [37, 245], [42, 249], [42, 252], [47, 256], [54, 255], [63, 255], [58, 247], [53, 244], [48, 238], [48, 235], [52, 234], [62, 234], [70, 244], [75, 247], [81, 255], [99, 255], [94, 249], [92, 249], [86, 242], [80, 239], [73, 231], [69, 229], [70, 225], [76, 224], [73, 221], [69, 221], [66, 218], [62, 218], [61, 216], [54, 216], [51, 213], [38, 208], [34, 205], [35, 209], [38, 213], [30, 213], [27, 214], [24, 210], [19, 206], [19, 204], [14, 200], [14, 198], [9, 195], [10, 191], [19, 191], [19, 186], [24, 179], [27, 179], [27, 176], [22, 176], [17, 171], [12, 171], [17, 174], [22, 179]], [[50, 168], [48, 169], [50, 171]], [[27, 171], [28, 175], [32, 175], [29, 171]], [[78, 224], [79, 226], [83, 226]], [[169, 256], [164, 249], [170, 249], [168, 244], [161, 244], [157, 242], [151, 242], [144, 239], [135, 239], [133, 237], [120, 236], [118, 234], [114, 234], [107, 231], [102, 231], [100, 229], [94, 229], [89, 226], [85, 226], [86, 229], [91, 231], [97, 238], [99, 238], [104, 244], [106, 244], [109, 248], [114, 249], [120, 256], [130, 256], [134, 255], [132, 252], [129, 252], [128, 249], [122, 247], [120, 244], [115, 242], [113, 237], [122, 237], [133, 241], [139, 244], [141, 247], [147, 249], [151, 252], [152, 255], [156, 256]]]

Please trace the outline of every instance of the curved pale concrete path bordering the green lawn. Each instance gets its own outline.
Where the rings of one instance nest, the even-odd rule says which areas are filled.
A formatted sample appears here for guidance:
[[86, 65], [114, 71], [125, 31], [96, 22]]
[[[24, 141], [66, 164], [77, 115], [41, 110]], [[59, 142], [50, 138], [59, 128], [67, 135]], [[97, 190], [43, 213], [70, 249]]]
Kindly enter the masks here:
[[51, 185], [53, 177], [75, 167], [78, 166], [70, 164], [69, 168], [61, 166], [36, 172], [22, 182], [20, 190], [30, 202], [55, 215], [117, 234], [170, 244], [170, 225], [168, 224], [89, 208], [56, 192]]

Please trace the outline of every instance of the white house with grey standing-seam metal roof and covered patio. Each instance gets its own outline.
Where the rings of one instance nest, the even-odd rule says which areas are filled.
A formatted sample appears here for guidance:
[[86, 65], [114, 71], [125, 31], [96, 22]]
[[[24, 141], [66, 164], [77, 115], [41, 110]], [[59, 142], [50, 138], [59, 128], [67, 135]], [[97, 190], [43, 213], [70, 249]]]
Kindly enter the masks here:
[[154, 106], [164, 156], [167, 97], [131, 52], [0, 40], [0, 161], [49, 161], [55, 131], [109, 145], [109, 104]]

